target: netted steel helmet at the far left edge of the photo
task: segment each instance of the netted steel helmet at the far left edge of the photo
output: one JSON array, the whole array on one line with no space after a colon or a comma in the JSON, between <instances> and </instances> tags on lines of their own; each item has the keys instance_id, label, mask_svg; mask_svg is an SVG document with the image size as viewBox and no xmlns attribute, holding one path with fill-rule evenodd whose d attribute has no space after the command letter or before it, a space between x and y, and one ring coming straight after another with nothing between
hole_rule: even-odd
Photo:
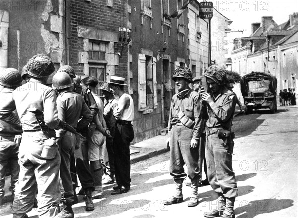
<instances>
[{"instance_id":1,"label":"netted steel helmet at the far left edge of the photo","mask_svg":"<svg viewBox=\"0 0 298 218\"><path fill-rule=\"evenodd\" d=\"M17 87L21 85L23 79L15 68L6 68L0 72L0 85L6 87Z\"/></svg>"}]
</instances>

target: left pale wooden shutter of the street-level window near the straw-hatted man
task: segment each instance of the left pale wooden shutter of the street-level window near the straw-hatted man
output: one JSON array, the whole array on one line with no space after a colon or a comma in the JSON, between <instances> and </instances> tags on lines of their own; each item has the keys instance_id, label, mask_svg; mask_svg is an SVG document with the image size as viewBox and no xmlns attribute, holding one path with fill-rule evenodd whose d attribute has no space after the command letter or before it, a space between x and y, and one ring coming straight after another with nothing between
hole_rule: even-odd
<instances>
[{"instance_id":1,"label":"left pale wooden shutter of the street-level window near the straw-hatted man","mask_svg":"<svg viewBox=\"0 0 298 218\"><path fill-rule=\"evenodd\" d=\"M146 57L145 54L138 54L138 94L139 111L146 110Z\"/></svg>"}]
</instances>

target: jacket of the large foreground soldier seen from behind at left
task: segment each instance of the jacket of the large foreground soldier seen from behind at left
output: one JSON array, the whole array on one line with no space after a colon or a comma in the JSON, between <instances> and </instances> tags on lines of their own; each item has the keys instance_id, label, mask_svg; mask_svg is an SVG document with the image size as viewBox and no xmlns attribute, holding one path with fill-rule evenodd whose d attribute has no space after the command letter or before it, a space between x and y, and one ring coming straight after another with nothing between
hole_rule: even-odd
<instances>
[{"instance_id":1,"label":"jacket of the large foreground soldier seen from behind at left","mask_svg":"<svg viewBox=\"0 0 298 218\"><path fill-rule=\"evenodd\" d=\"M21 122L24 131L38 131L41 128L35 115L27 111L30 107L43 111L45 124L49 128L55 129L58 126L56 93L34 78L14 90L6 102L1 102L0 119L15 125ZM13 113L15 109L19 117Z\"/></svg>"}]
</instances>

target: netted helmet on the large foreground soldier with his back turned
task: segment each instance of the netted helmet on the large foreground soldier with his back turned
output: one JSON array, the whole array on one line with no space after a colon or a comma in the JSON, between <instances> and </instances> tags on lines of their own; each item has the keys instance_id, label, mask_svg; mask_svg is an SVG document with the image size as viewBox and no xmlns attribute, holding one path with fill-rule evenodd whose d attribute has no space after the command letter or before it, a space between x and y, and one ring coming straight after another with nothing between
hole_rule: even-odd
<instances>
[{"instance_id":1,"label":"netted helmet on the large foreground soldier with his back turned","mask_svg":"<svg viewBox=\"0 0 298 218\"><path fill-rule=\"evenodd\" d=\"M43 54L34 55L27 63L28 74L36 78L48 77L55 71L52 60Z\"/></svg>"}]
</instances>

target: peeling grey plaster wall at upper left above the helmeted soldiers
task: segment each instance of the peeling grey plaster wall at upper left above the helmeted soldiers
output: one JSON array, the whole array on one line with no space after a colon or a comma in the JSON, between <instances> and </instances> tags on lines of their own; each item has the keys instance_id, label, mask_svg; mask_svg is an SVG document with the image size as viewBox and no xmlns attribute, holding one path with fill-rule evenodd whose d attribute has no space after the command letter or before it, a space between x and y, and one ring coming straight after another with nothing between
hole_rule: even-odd
<instances>
[{"instance_id":1,"label":"peeling grey plaster wall at upper left above the helmeted soldiers","mask_svg":"<svg viewBox=\"0 0 298 218\"><path fill-rule=\"evenodd\" d=\"M59 14L60 1L1 1L1 10L9 13L8 67L21 70L33 55L50 56L52 49L63 51L59 33L51 31L50 20L51 14Z\"/></svg>"}]
</instances>

